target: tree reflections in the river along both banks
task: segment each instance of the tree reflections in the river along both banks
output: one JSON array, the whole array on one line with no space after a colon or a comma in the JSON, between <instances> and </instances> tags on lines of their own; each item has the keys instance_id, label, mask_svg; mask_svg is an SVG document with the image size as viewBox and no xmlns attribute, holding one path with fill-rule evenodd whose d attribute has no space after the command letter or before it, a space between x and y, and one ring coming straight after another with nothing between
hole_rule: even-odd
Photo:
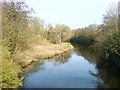
<instances>
[{"instance_id":1,"label":"tree reflections in the river along both banks","mask_svg":"<svg viewBox=\"0 0 120 90\"><path fill-rule=\"evenodd\" d=\"M92 81L97 89L99 88L119 88L120 87L120 72L119 68L113 63L104 64L104 60L98 58L97 54L93 49L85 46L74 46L75 52L78 56L82 56L85 60L88 60L89 63L95 65L96 72L89 71L89 74L94 76L96 79ZM59 56L54 57L53 59L40 60L35 62L28 69L25 70L25 73L28 75L40 70L45 70L44 63L45 61L54 60L55 65L61 65L67 63L71 57L71 51L63 53Z\"/></svg>"}]
</instances>

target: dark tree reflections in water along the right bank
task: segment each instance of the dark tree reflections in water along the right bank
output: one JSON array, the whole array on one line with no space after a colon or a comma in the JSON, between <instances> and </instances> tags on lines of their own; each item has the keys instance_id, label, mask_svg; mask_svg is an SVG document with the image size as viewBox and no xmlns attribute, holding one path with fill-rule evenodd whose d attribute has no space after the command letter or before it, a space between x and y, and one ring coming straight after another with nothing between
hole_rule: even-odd
<instances>
[{"instance_id":1,"label":"dark tree reflections in water along the right bank","mask_svg":"<svg viewBox=\"0 0 120 90\"><path fill-rule=\"evenodd\" d=\"M111 62L104 62L98 58L97 54L89 47L75 46L75 51L78 55L83 56L90 63L95 64L96 73L89 71L89 73L96 77L93 83L96 88L119 88L120 87L120 72L119 67ZM106 64L105 64L106 63Z\"/></svg>"}]
</instances>

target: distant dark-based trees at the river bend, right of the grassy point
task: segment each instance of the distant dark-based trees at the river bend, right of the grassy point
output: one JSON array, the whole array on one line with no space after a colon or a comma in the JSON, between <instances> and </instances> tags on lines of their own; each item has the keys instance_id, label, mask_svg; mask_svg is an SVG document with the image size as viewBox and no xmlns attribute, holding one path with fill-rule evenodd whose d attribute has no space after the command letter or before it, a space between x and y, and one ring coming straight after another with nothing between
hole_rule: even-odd
<instances>
[{"instance_id":1,"label":"distant dark-based trees at the river bend, right of the grassy point","mask_svg":"<svg viewBox=\"0 0 120 90\"><path fill-rule=\"evenodd\" d=\"M80 45L92 45L95 41L96 32L96 29L90 27L74 30L74 36L71 38L71 42Z\"/></svg>"}]
</instances>

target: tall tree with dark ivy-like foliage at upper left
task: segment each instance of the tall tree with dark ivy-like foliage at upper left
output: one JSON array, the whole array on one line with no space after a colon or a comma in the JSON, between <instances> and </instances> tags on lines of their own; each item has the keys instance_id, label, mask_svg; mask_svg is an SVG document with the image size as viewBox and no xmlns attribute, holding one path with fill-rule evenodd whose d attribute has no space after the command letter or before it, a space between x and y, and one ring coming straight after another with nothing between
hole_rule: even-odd
<instances>
[{"instance_id":1,"label":"tall tree with dark ivy-like foliage at upper left","mask_svg":"<svg viewBox=\"0 0 120 90\"><path fill-rule=\"evenodd\" d=\"M26 32L27 10L24 2L3 2L2 3L2 29L3 44L8 46L10 54L16 50L25 49L28 46Z\"/></svg>"}]
</instances>

